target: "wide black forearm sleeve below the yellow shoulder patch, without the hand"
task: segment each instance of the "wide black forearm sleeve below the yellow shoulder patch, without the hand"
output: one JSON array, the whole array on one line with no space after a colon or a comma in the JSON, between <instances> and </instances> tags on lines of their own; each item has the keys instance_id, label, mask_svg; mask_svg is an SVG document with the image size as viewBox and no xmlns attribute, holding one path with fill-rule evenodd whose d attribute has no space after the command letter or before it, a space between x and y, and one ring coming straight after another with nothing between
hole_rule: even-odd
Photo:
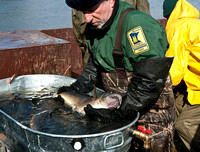
<instances>
[{"instance_id":1,"label":"wide black forearm sleeve below the yellow shoulder patch, without the hand","mask_svg":"<svg viewBox=\"0 0 200 152\"><path fill-rule=\"evenodd\" d=\"M173 58L161 57L133 63L133 77L119 109L123 115L130 115L131 111L142 112L146 106L157 101L172 61Z\"/></svg>"}]
</instances>

